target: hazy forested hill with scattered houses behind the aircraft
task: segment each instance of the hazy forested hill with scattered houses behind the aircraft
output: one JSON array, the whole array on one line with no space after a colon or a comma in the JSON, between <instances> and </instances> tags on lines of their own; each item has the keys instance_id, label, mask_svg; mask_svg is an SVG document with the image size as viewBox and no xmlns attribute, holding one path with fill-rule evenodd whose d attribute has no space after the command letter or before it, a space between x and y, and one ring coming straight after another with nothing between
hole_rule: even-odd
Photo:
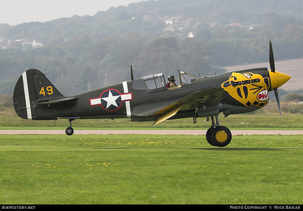
<instances>
[{"instance_id":1,"label":"hazy forested hill with scattered houses behind the aircraft","mask_svg":"<svg viewBox=\"0 0 303 211\"><path fill-rule=\"evenodd\" d=\"M94 16L0 24L0 95L35 68L70 95L178 70L214 75L222 66L303 55L301 0L158 0ZM29 11L30 12L30 11Z\"/></svg>"}]
</instances>

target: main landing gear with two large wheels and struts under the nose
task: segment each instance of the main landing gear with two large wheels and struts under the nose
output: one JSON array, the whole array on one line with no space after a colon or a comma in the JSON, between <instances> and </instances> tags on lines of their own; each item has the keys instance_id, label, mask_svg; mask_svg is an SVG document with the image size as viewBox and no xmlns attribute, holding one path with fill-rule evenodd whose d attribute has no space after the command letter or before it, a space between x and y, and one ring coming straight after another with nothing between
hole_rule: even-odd
<instances>
[{"instance_id":1,"label":"main landing gear with two large wheels and struts under the nose","mask_svg":"<svg viewBox=\"0 0 303 211\"><path fill-rule=\"evenodd\" d=\"M218 115L211 116L211 127L206 132L206 140L211 146L227 146L231 141L231 132L225 126L220 126ZM207 121L209 117L207 117Z\"/></svg>"}]
</instances>

